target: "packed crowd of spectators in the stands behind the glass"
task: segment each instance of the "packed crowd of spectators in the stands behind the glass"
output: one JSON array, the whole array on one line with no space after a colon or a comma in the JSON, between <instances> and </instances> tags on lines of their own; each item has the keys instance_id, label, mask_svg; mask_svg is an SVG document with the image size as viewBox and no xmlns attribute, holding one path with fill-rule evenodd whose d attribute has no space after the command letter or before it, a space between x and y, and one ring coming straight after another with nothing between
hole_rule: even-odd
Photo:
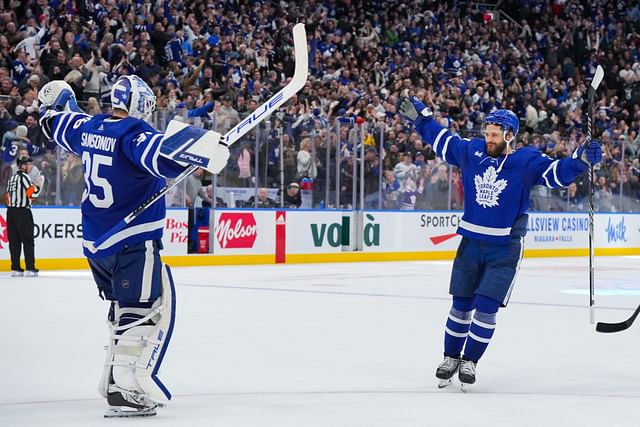
<instances>
[{"instance_id":1,"label":"packed crowd of spectators in the stands behind the glass","mask_svg":"<svg viewBox=\"0 0 640 427\"><path fill-rule=\"evenodd\" d=\"M400 120L399 97L422 98L462 136L478 135L492 109L511 109L521 119L519 146L562 158L584 140L585 94L600 64L593 133L604 161L596 209L638 210L638 2L511 0L500 8L505 13L430 0L2 1L0 187L24 148L48 178L41 203L80 202L81 160L48 145L37 123L37 93L48 81L64 79L83 108L98 114L109 112L117 77L135 73L157 96L157 127L177 117L224 133L287 83L291 29L305 22L304 89L233 146L218 185L282 185L284 196L289 184L313 180L312 205L349 207L355 162L364 167L368 207L459 209L459 172ZM194 177L209 185L204 191L188 183L187 205L224 204L210 178ZM586 176L554 193L540 187L532 207L582 210L587 191Z\"/></svg>"}]
</instances>

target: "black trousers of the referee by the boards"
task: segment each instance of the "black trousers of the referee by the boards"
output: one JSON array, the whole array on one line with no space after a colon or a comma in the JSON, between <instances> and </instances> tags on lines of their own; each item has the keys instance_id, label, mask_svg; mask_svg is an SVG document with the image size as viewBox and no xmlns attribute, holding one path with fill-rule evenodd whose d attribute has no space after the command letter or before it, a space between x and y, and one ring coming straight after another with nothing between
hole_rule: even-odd
<instances>
[{"instance_id":1,"label":"black trousers of the referee by the boards","mask_svg":"<svg viewBox=\"0 0 640 427\"><path fill-rule=\"evenodd\" d=\"M9 253L11 254L11 270L20 268L20 252L24 247L24 261L27 270L35 271L33 253L33 214L29 208L7 208L7 234L9 237Z\"/></svg>"}]
</instances>

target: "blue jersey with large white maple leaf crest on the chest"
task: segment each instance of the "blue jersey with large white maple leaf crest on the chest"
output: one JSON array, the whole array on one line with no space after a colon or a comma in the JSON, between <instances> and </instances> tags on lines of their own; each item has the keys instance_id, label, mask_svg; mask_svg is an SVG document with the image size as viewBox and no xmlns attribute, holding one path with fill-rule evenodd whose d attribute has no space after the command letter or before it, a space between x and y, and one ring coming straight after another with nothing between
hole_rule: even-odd
<instances>
[{"instance_id":1,"label":"blue jersey with large white maple leaf crest on the chest","mask_svg":"<svg viewBox=\"0 0 640 427\"><path fill-rule=\"evenodd\" d=\"M531 147L493 158L483 138L460 138L436 120L419 120L416 129L438 157L460 168L464 214L458 233L473 239L507 242L529 208L532 186L564 187L588 168L582 160L554 160Z\"/></svg>"}]
</instances>

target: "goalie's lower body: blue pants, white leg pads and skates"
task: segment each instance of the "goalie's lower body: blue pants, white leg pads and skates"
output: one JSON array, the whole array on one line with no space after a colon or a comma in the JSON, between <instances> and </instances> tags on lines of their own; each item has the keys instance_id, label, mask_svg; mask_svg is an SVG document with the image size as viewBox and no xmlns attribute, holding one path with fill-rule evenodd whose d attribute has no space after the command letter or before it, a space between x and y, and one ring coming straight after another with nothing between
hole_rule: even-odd
<instances>
[{"instance_id":1,"label":"goalie's lower body: blue pants, white leg pads and skates","mask_svg":"<svg viewBox=\"0 0 640 427\"><path fill-rule=\"evenodd\" d=\"M175 293L160 247L160 242L147 241L90 260L101 293L113 301L99 386L110 406L107 417L154 415L171 399L158 372L173 331Z\"/></svg>"}]
</instances>

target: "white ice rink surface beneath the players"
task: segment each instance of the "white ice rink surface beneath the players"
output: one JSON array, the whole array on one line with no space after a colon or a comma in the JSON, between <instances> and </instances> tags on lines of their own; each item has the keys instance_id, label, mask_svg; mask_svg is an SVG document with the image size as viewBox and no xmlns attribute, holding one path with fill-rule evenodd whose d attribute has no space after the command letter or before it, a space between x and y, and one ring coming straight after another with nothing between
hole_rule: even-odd
<instances>
[{"instance_id":1,"label":"white ice rink surface beneath the players","mask_svg":"<svg viewBox=\"0 0 640 427\"><path fill-rule=\"evenodd\" d=\"M640 303L638 258L596 259L597 320ZM640 324L589 324L586 258L524 260L466 394L438 390L450 262L174 268L156 417L105 420L107 304L89 272L0 278L0 426L638 426Z\"/></svg>"}]
</instances>

